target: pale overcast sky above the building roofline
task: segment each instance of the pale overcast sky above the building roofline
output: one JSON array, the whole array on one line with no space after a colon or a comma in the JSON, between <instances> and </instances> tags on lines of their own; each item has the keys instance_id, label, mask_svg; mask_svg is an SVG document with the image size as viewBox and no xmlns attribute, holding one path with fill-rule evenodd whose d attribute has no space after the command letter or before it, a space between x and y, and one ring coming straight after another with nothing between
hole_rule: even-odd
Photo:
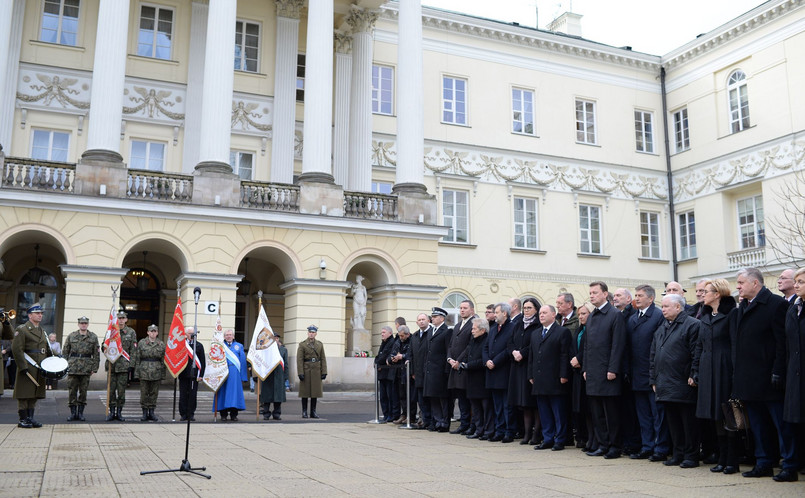
<instances>
[{"instance_id":1,"label":"pale overcast sky above the building roofline","mask_svg":"<svg viewBox=\"0 0 805 498\"><path fill-rule=\"evenodd\" d=\"M539 27L570 9L582 36L664 55L764 3L763 0L422 0L422 5Z\"/></svg>"}]
</instances>

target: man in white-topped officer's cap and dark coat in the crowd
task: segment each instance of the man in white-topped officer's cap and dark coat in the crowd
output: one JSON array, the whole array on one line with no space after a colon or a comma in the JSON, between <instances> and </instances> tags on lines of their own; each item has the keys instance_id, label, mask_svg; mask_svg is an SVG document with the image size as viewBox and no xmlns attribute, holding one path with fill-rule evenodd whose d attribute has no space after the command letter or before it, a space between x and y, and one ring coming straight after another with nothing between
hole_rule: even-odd
<instances>
[{"instance_id":1,"label":"man in white-topped officer's cap and dark coat in the crowd","mask_svg":"<svg viewBox=\"0 0 805 498\"><path fill-rule=\"evenodd\" d=\"M450 344L452 331L444 323L447 312L435 307L431 311L433 332L428 339L428 355L425 360L425 402L430 403L430 412L433 425L430 431L450 431L450 413L447 410L449 393L447 391L447 376L450 373L450 364L447 363L447 348Z\"/></svg>"}]
</instances>

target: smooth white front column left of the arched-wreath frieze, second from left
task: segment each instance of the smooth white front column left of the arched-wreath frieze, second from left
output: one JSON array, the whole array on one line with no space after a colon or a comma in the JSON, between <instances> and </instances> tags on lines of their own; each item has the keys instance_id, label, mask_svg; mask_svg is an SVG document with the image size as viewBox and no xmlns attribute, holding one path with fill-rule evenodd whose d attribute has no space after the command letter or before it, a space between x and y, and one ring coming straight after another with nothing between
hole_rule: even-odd
<instances>
[{"instance_id":1,"label":"smooth white front column left of the arched-wreath frieze, second from left","mask_svg":"<svg viewBox=\"0 0 805 498\"><path fill-rule=\"evenodd\" d=\"M129 0L102 1L98 7L92 66L87 150L81 156L82 160L123 163L120 124L123 119L128 32Z\"/></svg>"}]
</instances>

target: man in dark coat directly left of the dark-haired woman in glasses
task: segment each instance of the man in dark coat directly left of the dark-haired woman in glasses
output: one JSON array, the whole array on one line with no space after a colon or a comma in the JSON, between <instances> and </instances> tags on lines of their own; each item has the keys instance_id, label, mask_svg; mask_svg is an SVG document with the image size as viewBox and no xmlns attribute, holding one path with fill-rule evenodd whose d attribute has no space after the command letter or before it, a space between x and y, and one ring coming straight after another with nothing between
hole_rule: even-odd
<instances>
[{"instance_id":1,"label":"man in dark coat directly left of the dark-haired woman in glasses","mask_svg":"<svg viewBox=\"0 0 805 498\"><path fill-rule=\"evenodd\" d=\"M495 322L497 327L489 331L489 339L484 347L484 364L486 365L486 388L492 392L492 404L495 410L495 434L490 441L511 443L514 441L516 422L512 407L506 402L509 388L509 369L511 352L509 342L512 335L512 324L509 319L511 308L507 303L495 305Z\"/></svg>"}]
</instances>

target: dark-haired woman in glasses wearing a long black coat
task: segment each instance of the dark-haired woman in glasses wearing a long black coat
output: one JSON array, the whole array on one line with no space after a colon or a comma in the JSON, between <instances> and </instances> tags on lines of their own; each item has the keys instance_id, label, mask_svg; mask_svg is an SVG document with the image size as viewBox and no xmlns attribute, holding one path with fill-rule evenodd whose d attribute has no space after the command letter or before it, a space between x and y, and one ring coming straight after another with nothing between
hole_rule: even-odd
<instances>
[{"instance_id":1,"label":"dark-haired woman in glasses wearing a long black coat","mask_svg":"<svg viewBox=\"0 0 805 498\"><path fill-rule=\"evenodd\" d=\"M531 383L528 382L531 333L542 328L538 317L540 307L539 301L533 297L523 300L523 319L517 321L509 341L512 366L509 370L508 402L523 414L523 439L520 444L539 444L540 440L537 397L531 393Z\"/></svg>"}]
</instances>

